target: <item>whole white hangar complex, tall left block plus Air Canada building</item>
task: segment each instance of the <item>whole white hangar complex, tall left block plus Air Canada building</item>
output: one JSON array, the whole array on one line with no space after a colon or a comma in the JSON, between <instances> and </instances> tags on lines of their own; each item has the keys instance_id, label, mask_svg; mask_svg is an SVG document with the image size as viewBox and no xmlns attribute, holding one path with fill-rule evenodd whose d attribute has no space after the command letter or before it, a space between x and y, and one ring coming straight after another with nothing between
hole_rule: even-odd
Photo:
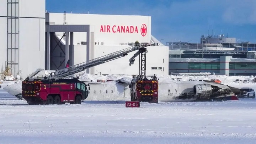
<instances>
[{"instance_id":1,"label":"whole white hangar complex, tall left block plus Air Canada building","mask_svg":"<svg viewBox=\"0 0 256 144\"><path fill-rule=\"evenodd\" d=\"M66 41L66 39L68 39ZM0 1L0 64L23 78L37 68L56 70L151 43L146 74L168 74L169 48L151 35L150 16L48 13L45 0ZM91 74L138 74L139 61L128 56L86 70ZM80 73L81 74L81 73Z\"/></svg>"}]
</instances>

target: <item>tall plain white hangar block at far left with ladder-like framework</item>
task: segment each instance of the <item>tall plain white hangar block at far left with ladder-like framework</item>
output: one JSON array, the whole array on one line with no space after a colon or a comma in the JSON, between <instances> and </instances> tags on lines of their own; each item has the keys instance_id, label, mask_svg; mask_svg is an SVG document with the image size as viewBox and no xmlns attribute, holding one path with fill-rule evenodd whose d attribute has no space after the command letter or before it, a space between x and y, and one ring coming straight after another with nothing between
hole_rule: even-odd
<instances>
[{"instance_id":1,"label":"tall plain white hangar block at far left with ladder-like framework","mask_svg":"<svg viewBox=\"0 0 256 144\"><path fill-rule=\"evenodd\" d=\"M24 78L45 67L45 0L9 2L0 1L0 65L9 61L12 75L22 71Z\"/></svg>"}]
</instances>

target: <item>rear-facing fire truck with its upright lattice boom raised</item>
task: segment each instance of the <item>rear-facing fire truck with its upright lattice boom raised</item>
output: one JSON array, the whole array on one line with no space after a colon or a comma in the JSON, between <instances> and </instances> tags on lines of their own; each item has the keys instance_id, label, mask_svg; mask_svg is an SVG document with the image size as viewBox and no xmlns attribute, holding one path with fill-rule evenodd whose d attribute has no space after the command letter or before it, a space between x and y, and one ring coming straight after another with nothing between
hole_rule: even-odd
<instances>
[{"instance_id":1,"label":"rear-facing fire truck with its upright lattice boom raised","mask_svg":"<svg viewBox=\"0 0 256 144\"><path fill-rule=\"evenodd\" d=\"M129 60L129 65L132 65L135 58L139 56L139 75L134 77L129 85L131 101L158 103L158 79L155 75L150 79L146 77L146 53L148 52L146 46L149 46L150 43L139 44L136 41L135 45L145 46L140 48Z\"/></svg>"}]
</instances>

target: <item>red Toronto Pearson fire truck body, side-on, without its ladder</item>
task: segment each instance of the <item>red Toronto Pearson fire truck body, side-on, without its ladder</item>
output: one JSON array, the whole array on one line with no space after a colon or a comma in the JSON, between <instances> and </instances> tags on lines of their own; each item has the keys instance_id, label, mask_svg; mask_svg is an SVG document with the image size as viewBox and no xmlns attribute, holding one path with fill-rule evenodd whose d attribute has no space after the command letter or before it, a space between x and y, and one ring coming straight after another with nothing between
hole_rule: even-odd
<instances>
[{"instance_id":1,"label":"red Toronto Pearson fire truck body, side-on, without its ladder","mask_svg":"<svg viewBox=\"0 0 256 144\"><path fill-rule=\"evenodd\" d=\"M88 96L87 86L78 78L26 79L22 81L22 97L30 105L81 104Z\"/></svg>"}]
</instances>

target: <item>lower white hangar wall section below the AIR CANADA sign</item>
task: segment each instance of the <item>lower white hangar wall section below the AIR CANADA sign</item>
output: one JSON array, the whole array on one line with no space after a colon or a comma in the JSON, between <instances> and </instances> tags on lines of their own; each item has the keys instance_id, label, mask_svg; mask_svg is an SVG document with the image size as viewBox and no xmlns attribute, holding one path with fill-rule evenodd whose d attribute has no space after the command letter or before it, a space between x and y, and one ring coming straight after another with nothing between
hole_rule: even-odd
<instances>
[{"instance_id":1,"label":"lower white hangar wall section below the AIR CANADA sign","mask_svg":"<svg viewBox=\"0 0 256 144\"><path fill-rule=\"evenodd\" d=\"M129 46L95 46L94 57L100 57L109 53L128 48ZM146 75L168 75L169 74L169 47L148 46L146 53ZM130 52L127 56L117 60L95 66L92 74L139 74L139 56L133 65L129 66L129 59L137 51Z\"/></svg>"}]
</instances>

